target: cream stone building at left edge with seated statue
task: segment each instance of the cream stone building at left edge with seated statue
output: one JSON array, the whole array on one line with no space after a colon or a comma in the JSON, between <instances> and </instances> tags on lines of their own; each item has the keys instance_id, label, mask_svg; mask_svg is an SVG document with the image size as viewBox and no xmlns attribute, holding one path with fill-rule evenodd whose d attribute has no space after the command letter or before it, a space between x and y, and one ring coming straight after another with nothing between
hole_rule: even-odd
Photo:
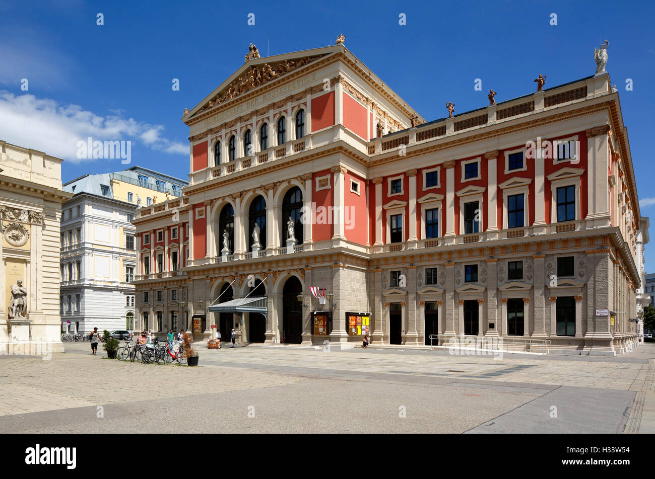
<instances>
[{"instance_id":1,"label":"cream stone building at left edge with seated statue","mask_svg":"<svg viewBox=\"0 0 655 479\"><path fill-rule=\"evenodd\" d=\"M62 190L62 161L0 141L0 354L64 350L59 226L62 203L72 195ZM22 296L20 315L10 307L12 288Z\"/></svg>"}]
</instances>

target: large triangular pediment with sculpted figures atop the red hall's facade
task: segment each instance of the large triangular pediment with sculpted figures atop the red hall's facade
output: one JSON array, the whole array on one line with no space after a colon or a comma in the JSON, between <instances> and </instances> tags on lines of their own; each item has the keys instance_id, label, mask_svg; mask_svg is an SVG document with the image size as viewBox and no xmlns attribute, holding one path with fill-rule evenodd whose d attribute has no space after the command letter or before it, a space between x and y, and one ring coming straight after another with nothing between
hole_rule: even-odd
<instances>
[{"instance_id":1,"label":"large triangular pediment with sculpted figures atop the red hall's facade","mask_svg":"<svg viewBox=\"0 0 655 479\"><path fill-rule=\"evenodd\" d=\"M230 103L231 100L239 98L247 92L257 90L260 86L269 84L274 80L281 79L288 73L291 73L291 71L295 71L337 51L341 51L341 46L333 45L282 55L246 58L243 65L212 93L200 101L191 111L186 112L182 118L184 121L188 121L195 115L204 113L210 109L218 111L221 107ZM259 52L257 55L259 55ZM250 56L250 53L248 56Z\"/></svg>"}]
</instances>

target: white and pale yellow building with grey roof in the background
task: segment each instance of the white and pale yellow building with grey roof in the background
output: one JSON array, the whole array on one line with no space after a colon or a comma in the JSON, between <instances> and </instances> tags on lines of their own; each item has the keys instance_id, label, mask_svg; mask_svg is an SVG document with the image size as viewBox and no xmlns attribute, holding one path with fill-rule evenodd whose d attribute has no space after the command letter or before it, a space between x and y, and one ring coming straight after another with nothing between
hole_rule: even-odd
<instances>
[{"instance_id":1,"label":"white and pale yellow building with grey roof in the background","mask_svg":"<svg viewBox=\"0 0 655 479\"><path fill-rule=\"evenodd\" d=\"M157 171L84 175L65 183L75 194L62 206L62 330L134 328L136 251L132 219L138 204L180 196L187 182Z\"/></svg>"}]
</instances>

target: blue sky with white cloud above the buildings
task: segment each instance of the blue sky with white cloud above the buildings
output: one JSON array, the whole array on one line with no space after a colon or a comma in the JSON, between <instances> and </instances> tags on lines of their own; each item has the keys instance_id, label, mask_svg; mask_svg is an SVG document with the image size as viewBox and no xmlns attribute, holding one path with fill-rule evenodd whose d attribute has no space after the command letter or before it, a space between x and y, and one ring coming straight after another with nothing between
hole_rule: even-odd
<instances>
[{"instance_id":1,"label":"blue sky with white cloud above the buildings","mask_svg":"<svg viewBox=\"0 0 655 479\"><path fill-rule=\"evenodd\" d=\"M548 75L546 88L593 75L593 49L607 39L641 213L655 217L653 18L650 2L616 1L0 0L0 139L63 157L64 181L124 168L77 160L74 145L88 135L129 139L132 165L187 178L182 111L243 64L250 42L264 56L327 46L343 33L346 47L429 121L447 114L446 101L456 113L486 105L489 88L496 101L533 92L538 73ZM650 248L646 266L655 272Z\"/></svg>"}]
</instances>

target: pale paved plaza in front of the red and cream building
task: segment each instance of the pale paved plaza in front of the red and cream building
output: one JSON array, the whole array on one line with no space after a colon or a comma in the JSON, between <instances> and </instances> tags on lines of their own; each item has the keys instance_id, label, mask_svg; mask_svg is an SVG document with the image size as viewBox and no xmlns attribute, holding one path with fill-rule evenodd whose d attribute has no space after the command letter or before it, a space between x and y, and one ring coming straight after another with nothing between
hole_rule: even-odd
<instances>
[{"instance_id":1,"label":"pale paved plaza in front of the red and cream building","mask_svg":"<svg viewBox=\"0 0 655 479\"><path fill-rule=\"evenodd\" d=\"M0 357L0 433L653 433L655 344L619 357L241 346L198 368L65 344Z\"/></svg>"}]
</instances>

